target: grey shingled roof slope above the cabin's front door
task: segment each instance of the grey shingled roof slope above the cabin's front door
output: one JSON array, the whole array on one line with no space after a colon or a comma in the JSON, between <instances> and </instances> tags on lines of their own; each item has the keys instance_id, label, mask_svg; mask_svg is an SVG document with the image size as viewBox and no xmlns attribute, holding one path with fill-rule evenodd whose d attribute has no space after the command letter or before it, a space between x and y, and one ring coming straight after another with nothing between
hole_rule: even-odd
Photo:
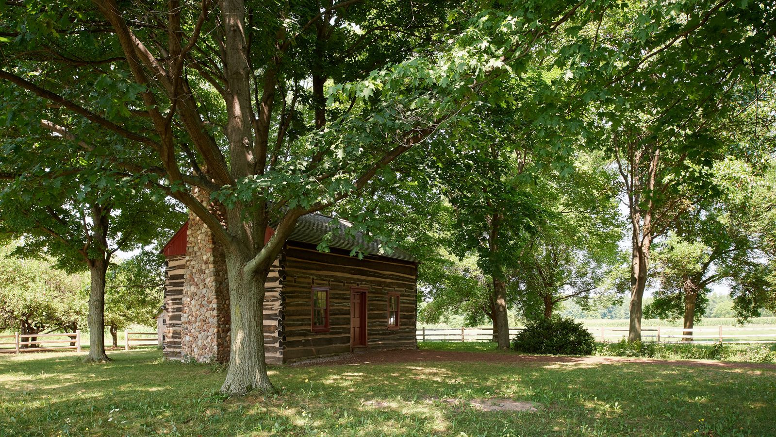
<instances>
[{"instance_id":1,"label":"grey shingled roof slope above the cabin's front door","mask_svg":"<svg viewBox=\"0 0 776 437\"><path fill-rule=\"evenodd\" d=\"M280 217L276 217L275 220L270 220L269 225L271 227L277 227L279 219ZM338 224L332 225L332 220L337 220ZM379 255L386 258L417 262L417 259L414 258L414 256L401 248L393 248L393 251L390 254L380 253L379 241L367 241L366 236L360 231L355 232L355 238L345 234L345 228L352 226L353 224L348 220L327 217L320 213L310 213L300 217L299 220L296 220L296 226L293 231L291 231L291 235L289 235L289 241L319 245L320 242L323 241L324 235L333 231L331 239L328 242L330 248L352 251L353 248L359 246L359 249L368 255Z\"/></svg>"}]
</instances>

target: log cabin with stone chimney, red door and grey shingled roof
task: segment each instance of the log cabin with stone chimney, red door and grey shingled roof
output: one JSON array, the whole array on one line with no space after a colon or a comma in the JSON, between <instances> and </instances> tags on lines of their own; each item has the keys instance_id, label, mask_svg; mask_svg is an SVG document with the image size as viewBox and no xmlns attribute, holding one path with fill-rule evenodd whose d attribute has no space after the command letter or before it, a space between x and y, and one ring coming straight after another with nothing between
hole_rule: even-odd
<instances>
[{"instance_id":1,"label":"log cabin with stone chimney, red door and grey shingled roof","mask_svg":"<svg viewBox=\"0 0 776 437\"><path fill-rule=\"evenodd\" d=\"M417 348L417 260L400 248L379 254L376 242L359 232L346 234L351 226L320 214L298 220L265 283L269 364L359 349ZM272 232L271 222L267 239ZM324 238L327 252L317 250ZM351 255L354 248L362 258ZM227 362L229 284L223 248L192 216L165 245L164 255L165 358Z\"/></svg>"}]
</instances>

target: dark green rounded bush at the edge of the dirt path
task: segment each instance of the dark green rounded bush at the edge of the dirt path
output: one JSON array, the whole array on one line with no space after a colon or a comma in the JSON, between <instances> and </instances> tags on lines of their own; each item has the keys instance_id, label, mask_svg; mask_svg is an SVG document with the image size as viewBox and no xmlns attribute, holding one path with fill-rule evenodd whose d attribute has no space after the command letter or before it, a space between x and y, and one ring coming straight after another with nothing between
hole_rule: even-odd
<instances>
[{"instance_id":1,"label":"dark green rounded bush at the edge of the dirt path","mask_svg":"<svg viewBox=\"0 0 776 437\"><path fill-rule=\"evenodd\" d=\"M591 355L593 335L572 318L530 321L513 340L514 350L556 355Z\"/></svg>"}]
</instances>

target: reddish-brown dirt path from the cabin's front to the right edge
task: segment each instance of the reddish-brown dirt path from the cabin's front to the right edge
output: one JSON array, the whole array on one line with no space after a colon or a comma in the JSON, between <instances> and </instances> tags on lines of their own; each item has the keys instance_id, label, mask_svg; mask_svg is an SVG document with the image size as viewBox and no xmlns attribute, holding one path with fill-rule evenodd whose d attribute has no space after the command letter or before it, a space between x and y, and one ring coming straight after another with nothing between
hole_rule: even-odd
<instances>
[{"instance_id":1,"label":"reddish-brown dirt path from the cabin's front to the right edge","mask_svg":"<svg viewBox=\"0 0 776 437\"><path fill-rule=\"evenodd\" d=\"M636 362L659 366L694 366L712 367L718 369L770 369L776 370L776 364L757 362L720 362L692 359L650 359L625 358L618 356L547 356L519 355L509 352L457 352L418 350L368 351L338 355L334 357L310 359L297 362L293 366L332 366L359 364L390 364L398 362L497 362L504 364L557 364L557 365L596 365Z\"/></svg>"}]
</instances>

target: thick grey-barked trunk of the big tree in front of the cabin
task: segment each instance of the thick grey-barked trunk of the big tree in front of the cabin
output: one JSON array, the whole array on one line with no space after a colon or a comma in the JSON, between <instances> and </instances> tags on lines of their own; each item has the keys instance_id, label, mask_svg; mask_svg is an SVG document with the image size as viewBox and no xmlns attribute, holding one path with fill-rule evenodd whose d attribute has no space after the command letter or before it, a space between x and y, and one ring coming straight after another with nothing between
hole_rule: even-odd
<instances>
[{"instance_id":1,"label":"thick grey-barked trunk of the big tree in front of the cabin","mask_svg":"<svg viewBox=\"0 0 776 437\"><path fill-rule=\"evenodd\" d=\"M221 387L227 394L275 391L267 376L264 355L263 302L268 271L246 276L248 259L236 250L227 250L231 345L227 377Z\"/></svg>"}]
</instances>

